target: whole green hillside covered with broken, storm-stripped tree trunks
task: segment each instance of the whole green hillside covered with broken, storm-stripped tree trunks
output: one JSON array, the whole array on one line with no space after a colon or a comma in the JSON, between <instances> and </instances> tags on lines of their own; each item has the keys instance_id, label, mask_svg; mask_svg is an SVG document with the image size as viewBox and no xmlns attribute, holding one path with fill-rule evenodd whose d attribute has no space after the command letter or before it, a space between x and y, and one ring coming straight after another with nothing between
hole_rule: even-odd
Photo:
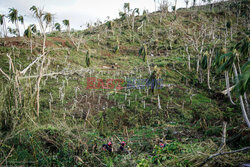
<instances>
[{"instance_id":1,"label":"whole green hillside covered with broken, storm-stripped tree trunks","mask_svg":"<svg viewBox=\"0 0 250 167\"><path fill-rule=\"evenodd\" d=\"M249 147L239 95L231 91L233 105L222 93L225 75L230 86L236 77L221 67L229 59L220 58L232 51L238 69L249 62L248 6L230 1L176 15L131 9L84 31L47 33L44 54L37 34L32 53L28 38L1 38L0 166L200 166L219 151ZM128 88L153 71L160 89ZM108 79L123 89L103 86ZM112 153L102 151L109 141ZM127 151L118 152L122 141ZM249 159L248 150L205 166Z\"/></svg>"}]
</instances>

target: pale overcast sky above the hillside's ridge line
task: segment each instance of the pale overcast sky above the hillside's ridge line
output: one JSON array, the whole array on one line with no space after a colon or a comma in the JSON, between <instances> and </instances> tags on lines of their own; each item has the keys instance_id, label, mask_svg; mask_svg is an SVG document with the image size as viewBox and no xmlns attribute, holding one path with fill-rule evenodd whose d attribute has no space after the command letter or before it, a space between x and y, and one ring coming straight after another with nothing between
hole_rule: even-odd
<instances>
[{"instance_id":1,"label":"pale overcast sky above the hillside's ridge line","mask_svg":"<svg viewBox=\"0 0 250 167\"><path fill-rule=\"evenodd\" d=\"M174 0L169 1L174 4ZM117 18L125 2L129 2L131 8L140 8L141 12L144 9L149 12L155 10L154 0L0 0L0 14L7 15L9 8L14 7L20 15L24 15L25 24L29 25L36 22L29 11L35 5L55 14L56 22L69 19L71 28L81 29L80 26L85 26L87 22L94 23L97 19L104 21L107 16ZM184 6L184 0L178 0L177 7Z\"/></svg>"}]
</instances>

